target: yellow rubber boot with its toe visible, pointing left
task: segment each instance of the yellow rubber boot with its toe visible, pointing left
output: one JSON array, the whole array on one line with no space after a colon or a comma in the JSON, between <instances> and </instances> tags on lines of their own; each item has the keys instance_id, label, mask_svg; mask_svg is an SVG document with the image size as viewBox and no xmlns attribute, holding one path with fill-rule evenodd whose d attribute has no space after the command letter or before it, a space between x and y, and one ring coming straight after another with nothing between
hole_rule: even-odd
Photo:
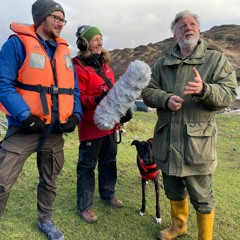
<instances>
[{"instance_id":1,"label":"yellow rubber boot with its toe visible, pointing left","mask_svg":"<svg viewBox=\"0 0 240 240\"><path fill-rule=\"evenodd\" d=\"M162 230L161 240L172 240L187 234L188 198L182 201L170 201L172 226Z\"/></svg>"}]
</instances>

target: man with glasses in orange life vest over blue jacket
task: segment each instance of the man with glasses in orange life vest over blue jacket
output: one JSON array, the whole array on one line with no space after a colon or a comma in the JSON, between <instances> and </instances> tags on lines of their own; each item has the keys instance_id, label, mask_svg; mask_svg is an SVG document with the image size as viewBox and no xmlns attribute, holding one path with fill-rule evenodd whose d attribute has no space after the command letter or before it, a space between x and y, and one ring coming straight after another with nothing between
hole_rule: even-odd
<instances>
[{"instance_id":1,"label":"man with glasses in orange life vest over blue jacket","mask_svg":"<svg viewBox=\"0 0 240 240\"><path fill-rule=\"evenodd\" d=\"M66 41L60 4L37 0L34 25L12 23L15 32L0 52L0 102L8 131L0 145L0 216L27 158L37 151L38 226L48 239L64 239L53 222L56 178L64 163L63 133L82 118L80 91Z\"/></svg>"}]
</instances>

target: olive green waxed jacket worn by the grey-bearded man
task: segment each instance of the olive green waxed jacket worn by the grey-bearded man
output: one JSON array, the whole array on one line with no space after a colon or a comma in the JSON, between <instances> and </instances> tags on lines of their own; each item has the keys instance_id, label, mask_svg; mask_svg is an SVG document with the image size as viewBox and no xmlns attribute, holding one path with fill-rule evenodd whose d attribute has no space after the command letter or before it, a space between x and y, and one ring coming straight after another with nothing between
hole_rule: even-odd
<instances>
[{"instance_id":1,"label":"olive green waxed jacket worn by the grey-bearded man","mask_svg":"<svg viewBox=\"0 0 240 240\"><path fill-rule=\"evenodd\" d=\"M204 82L203 95L184 95L184 86L193 81L192 67ZM171 95L184 103L176 112L166 108ZM210 50L200 39L195 51L182 60L176 45L159 58L152 68L149 86L142 98L157 109L153 155L158 167L173 176L205 175L217 165L217 126L215 114L237 97L234 68L221 52Z\"/></svg>"}]
</instances>

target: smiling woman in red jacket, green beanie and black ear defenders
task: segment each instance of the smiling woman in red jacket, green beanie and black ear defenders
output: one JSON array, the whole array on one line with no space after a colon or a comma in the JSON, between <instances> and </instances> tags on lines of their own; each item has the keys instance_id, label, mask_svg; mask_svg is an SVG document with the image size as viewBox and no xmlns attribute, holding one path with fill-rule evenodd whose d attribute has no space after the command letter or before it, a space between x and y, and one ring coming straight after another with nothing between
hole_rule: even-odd
<instances>
[{"instance_id":1,"label":"smiling woman in red jacket, green beanie and black ear defenders","mask_svg":"<svg viewBox=\"0 0 240 240\"><path fill-rule=\"evenodd\" d=\"M93 26L80 26L76 33L80 50L73 63L81 90L83 118L78 127L80 141L77 164L77 210L87 223L97 221L92 211L95 189L94 169L98 163L99 194L103 202L120 208L122 201L115 197L117 180L117 144L114 129L100 130L94 123L95 108L114 84L114 74L109 66L109 52L102 48L102 34ZM104 80L97 72L101 71Z\"/></svg>"}]
</instances>

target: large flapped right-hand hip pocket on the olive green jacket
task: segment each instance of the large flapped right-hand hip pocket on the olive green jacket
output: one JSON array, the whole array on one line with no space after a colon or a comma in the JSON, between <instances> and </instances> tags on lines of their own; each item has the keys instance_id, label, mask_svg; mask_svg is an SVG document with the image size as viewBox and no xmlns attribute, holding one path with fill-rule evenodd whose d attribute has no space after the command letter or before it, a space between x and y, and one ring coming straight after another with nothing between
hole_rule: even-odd
<instances>
[{"instance_id":1,"label":"large flapped right-hand hip pocket on the olive green jacket","mask_svg":"<svg viewBox=\"0 0 240 240\"><path fill-rule=\"evenodd\" d=\"M187 124L185 161L189 165L200 165L216 159L217 134L215 124L208 122Z\"/></svg>"}]
</instances>

